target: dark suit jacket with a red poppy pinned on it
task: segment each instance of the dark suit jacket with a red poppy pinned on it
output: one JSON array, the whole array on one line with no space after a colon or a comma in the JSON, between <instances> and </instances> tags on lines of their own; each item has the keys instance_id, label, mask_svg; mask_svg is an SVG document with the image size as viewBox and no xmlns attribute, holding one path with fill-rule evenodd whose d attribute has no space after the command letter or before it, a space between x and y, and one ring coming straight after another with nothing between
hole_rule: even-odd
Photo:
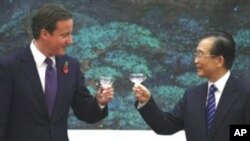
<instances>
[{"instance_id":1,"label":"dark suit jacket with a red poppy pinned on it","mask_svg":"<svg viewBox=\"0 0 250 141\"><path fill-rule=\"evenodd\" d=\"M68 73L63 65L68 61ZM58 90L51 118L30 48L0 59L0 141L68 141L70 106L80 120L107 116L84 85L78 62L57 56Z\"/></svg>"}]
</instances>

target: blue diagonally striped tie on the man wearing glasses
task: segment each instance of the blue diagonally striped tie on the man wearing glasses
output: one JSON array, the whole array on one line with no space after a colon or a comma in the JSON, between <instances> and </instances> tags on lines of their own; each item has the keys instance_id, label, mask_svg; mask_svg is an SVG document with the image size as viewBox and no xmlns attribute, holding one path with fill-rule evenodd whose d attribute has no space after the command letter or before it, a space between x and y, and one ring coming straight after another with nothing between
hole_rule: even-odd
<instances>
[{"instance_id":1,"label":"blue diagonally striped tie on the man wearing glasses","mask_svg":"<svg viewBox=\"0 0 250 141\"><path fill-rule=\"evenodd\" d=\"M212 84L209 89L208 93L208 100L207 100L207 119L206 119L206 126L207 126L207 134L209 134L214 117L215 117L215 96L214 93L217 91L217 88Z\"/></svg>"}]
</instances>

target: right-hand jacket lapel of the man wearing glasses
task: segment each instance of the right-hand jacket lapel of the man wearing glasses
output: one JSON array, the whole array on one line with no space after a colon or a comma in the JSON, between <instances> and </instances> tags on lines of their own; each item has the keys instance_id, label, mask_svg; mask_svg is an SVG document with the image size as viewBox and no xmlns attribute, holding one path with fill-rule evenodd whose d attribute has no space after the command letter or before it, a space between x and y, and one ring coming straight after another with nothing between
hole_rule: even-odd
<instances>
[{"instance_id":1,"label":"right-hand jacket lapel of the man wearing glasses","mask_svg":"<svg viewBox=\"0 0 250 141\"><path fill-rule=\"evenodd\" d=\"M237 100L237 98L238 98L237 88L235 87L235 84L234 84L234 78L231 75L225 85L225 88L221 95L221 99L217 106L214 123L211 127L210 137L215 135L217 128L221 126L224 118L226 117L227 113L230 111L231 106L233 106L233 103Z\"/></svg>"}]
</instances>

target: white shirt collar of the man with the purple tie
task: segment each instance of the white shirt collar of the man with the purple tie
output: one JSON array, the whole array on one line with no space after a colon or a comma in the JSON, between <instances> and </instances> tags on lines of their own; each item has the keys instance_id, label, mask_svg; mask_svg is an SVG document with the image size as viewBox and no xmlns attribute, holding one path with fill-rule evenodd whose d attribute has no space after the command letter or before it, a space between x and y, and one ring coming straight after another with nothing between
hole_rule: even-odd
<instances>
[{"instance_id":1,"label":"white shirt collar of the man with the purple tie","mask_svg":"<svg viewBox=\"0 0 250 141\"><path fill-rule=\"evenodd\" d=\"M32 40L30 43L30 50L31 50L31 53L34 57L36 65L38 67L42 66L44 64L44 60L46 59L46 56L40 50L38 50L38 48L34 44L34 40ZM52 59L53 64L55 64L55 62L56 62L55 56L50 57L50 59Z\"/></svg>"}]
</instances>

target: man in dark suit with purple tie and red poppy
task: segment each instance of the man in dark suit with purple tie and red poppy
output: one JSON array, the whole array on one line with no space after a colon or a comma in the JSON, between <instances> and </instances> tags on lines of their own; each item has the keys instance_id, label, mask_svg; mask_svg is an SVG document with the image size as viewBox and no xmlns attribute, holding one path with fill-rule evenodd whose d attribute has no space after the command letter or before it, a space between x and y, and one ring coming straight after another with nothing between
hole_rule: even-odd
<instances>
[{"instance_id":1,"label":"man in dark suit with purple tie and red poppy","mask_svg":"<svg viewBox=\"0 0 250 141\"><path fill-rule=\"evenodd\" d=\"M107 116L113 88L90 95L79 63L65 55L72 30L69 11L45 5L32 19L30 46L0 60L0 141L68 141L70 107L88 123Z\"/></svg>"}]
</instances>

